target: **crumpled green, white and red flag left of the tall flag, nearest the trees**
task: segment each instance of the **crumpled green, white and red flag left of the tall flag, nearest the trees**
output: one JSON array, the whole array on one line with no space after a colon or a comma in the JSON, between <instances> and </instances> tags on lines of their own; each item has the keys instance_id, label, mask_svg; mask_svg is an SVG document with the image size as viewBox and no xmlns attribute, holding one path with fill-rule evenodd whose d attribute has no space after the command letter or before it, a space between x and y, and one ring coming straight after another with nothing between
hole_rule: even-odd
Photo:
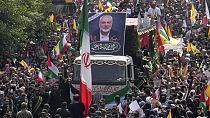
<instances>
[{"instance_id":1,"label":"crumpled green, white and red flag left of the tall flag, nearest the trees","mask_svg":"<svg viewBox=\"0 0 210 118\"><path fill-rule=\"evenodd\" d=\"M58 42L58 44L55 46L55 54L56 56L61 59L64 52L66 52L68 50L68 48L70 47L69 43L66 41L68 37L68 33L63 33L61 40Z\"/></svg>"}]
</instances>

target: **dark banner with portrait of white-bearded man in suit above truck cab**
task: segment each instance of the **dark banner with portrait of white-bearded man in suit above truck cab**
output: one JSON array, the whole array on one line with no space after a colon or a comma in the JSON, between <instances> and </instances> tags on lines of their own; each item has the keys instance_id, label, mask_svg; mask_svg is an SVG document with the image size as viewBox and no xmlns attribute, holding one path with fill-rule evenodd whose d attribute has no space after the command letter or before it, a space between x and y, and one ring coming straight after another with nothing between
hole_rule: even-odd
<instances>
[{"instance_id":1,"label":"dark banner with portrait of white-bearded man in suit above truck cab","mask_svg":"<svg viewBox=\"0 0 210 118\"><path fill-rule=\"evenodd\" d=\"M126 13L89 13L91 54L124 55Z\"/></svg>"}]
</instances>

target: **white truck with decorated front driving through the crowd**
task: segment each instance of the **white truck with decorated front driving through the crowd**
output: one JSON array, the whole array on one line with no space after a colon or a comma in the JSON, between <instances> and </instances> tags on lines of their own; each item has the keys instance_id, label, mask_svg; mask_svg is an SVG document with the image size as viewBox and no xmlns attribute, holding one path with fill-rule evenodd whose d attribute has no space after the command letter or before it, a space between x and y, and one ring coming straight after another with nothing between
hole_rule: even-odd
<instances>
[{"instance_id":1,"label":"white truck with decorated front driving through the crowd","mask_svg":"<svg viewBox=\"0 0 210 118\"><path fill-rule=\"evenodd\" d=\"M131 56L91 55L93 102L121 91L134 80ZM79 90L81 56L74 60L72 86Z\"/></svg>"}]
</instances>

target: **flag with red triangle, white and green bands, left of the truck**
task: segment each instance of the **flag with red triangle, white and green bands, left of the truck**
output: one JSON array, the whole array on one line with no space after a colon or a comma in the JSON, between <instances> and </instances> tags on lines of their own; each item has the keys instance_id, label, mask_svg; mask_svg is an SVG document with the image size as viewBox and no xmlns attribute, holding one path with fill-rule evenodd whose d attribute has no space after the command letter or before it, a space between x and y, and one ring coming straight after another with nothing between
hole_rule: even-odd
<instances>
[{"instance_id":1,"label":"flag with red triangle, white and green bands, left of the truck","mask_svg":"<svg viewBox=\"0 0 210 118\"><path fill-rule=\"evenodd\" d=\"M58 76L58 68L51 62L50 55L48 54L47 58L47 66L48 66L48 77L55 78Z\"/></svg>"}]
</instances>

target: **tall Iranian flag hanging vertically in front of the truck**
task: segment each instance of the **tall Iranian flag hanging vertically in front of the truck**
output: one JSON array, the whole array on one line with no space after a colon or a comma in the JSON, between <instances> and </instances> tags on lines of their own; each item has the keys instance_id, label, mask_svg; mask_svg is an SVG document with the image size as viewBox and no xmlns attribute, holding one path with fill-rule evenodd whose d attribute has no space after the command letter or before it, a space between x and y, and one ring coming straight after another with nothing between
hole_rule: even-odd
<instances>
[{"instance_id":1,"label":"tall Iranian flag hanging vertically in front of the truck","mask_svg":"<svg viewBox=\"0 0 210 118\"><path fill-rule=\"evenodd\" d=\"M82 13L80 16L80 55L81 55L81 80L80 80L80 101L85 106L84 115L88 115L92 99L92 75L90 64L90 39L88 27L88 6L84 0Z\"/></svg>"}]
</instances>

